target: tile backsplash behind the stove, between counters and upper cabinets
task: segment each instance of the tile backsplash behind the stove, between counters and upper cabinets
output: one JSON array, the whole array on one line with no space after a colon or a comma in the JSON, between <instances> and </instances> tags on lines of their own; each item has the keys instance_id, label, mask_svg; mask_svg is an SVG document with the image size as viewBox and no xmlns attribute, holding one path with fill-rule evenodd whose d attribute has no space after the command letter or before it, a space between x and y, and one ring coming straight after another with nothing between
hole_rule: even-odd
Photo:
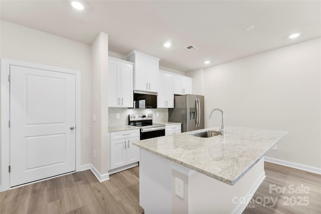
<instances>
[{"instance_id":1,"label":"tile backsplash behind the stove, between counters and upper cabinets","mask_svg":"<svg viewBox=\"0 0 321 214\"><path fill-rule=\"evenodd\" d=\"M119 113L119 119L116 119L116 113ZM159 116L156 117L156 113ZM153 122L167 122L169 120L169 112L167 108L157 109L133 109L133 108L108 108L108 123L109 126L128 125L129 114L152 114Z\"/></svg>"}]
</instances>

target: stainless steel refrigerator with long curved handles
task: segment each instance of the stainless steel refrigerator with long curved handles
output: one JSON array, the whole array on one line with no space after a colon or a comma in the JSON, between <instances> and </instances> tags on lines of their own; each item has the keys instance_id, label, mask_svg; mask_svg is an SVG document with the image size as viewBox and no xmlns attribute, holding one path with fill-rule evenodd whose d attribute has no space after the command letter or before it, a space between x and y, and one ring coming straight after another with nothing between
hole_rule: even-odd
<instances>
[{"instance_id":1,"label":"stainless steel refrigerator with long curved handles","mask_svg":"<svg viewBox=\"0 0 321 214\"><path fill-rule=\"evenodd\" d=\"M204 129L204 96L175 96L174 108L169 109L169 121L182 122L182 132Z\"/></svg>"}]
</instances>

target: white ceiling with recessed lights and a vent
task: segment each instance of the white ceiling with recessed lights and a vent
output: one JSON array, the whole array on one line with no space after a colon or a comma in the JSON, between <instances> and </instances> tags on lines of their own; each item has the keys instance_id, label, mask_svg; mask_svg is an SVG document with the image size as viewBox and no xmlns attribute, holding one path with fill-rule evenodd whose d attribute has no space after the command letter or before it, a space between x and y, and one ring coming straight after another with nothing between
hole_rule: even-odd
<instances>
[{"instance_id":1,"label":"white ceiling with recessed lights and a vent","mask_svg":"<svg viewBox=\"0 0 321 214\"><path fill-rule=\"evenodd\" d=\"M69 1L1 1L1 19L88 45L102 31L109 51L137 50L183 72L321 36L320 1L82 2L79 12ZM249 25L254 30L244 31ZM288 39L292 33L301 35Z\"/></svg>"}]
</instances>

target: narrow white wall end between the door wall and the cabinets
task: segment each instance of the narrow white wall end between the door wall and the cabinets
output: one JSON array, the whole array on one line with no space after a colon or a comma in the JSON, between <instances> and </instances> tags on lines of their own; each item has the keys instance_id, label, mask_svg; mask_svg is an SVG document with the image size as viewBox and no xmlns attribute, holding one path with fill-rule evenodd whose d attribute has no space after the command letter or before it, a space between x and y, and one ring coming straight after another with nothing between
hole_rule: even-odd
<instances>
[{"instance_id":1,"label":"narrow white wall end between the door wall and the cabinets","mask_svg":"<svg viewBox=\"0 0 321 214\"><path fill-rule=\"evenodd\" d=\"M107 34L99 33L91 45L91 53L91 111L92 115L96 115L96 121L92 121L91 126L91 163L103 175L109 169ZM94 150L96 156L94 156Z\"/></svg>"}]
</instances>

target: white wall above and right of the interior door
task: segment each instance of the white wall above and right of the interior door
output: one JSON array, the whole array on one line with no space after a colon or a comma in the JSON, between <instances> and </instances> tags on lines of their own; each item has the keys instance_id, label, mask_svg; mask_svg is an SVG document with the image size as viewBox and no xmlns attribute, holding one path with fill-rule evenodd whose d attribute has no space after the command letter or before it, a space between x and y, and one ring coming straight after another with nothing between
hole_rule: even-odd
<instances>
[{"instance_id":1,"label":"white wall above and right of the interior door","mask_svg":"<svg viewBox=\"0 0 321 214\"><path fill-rule=\"evenodd\" d=\"M2 58L81 71L81 164L90 163L90 46L6 21L0 27Z\"/></svg>"}]
</instances>

